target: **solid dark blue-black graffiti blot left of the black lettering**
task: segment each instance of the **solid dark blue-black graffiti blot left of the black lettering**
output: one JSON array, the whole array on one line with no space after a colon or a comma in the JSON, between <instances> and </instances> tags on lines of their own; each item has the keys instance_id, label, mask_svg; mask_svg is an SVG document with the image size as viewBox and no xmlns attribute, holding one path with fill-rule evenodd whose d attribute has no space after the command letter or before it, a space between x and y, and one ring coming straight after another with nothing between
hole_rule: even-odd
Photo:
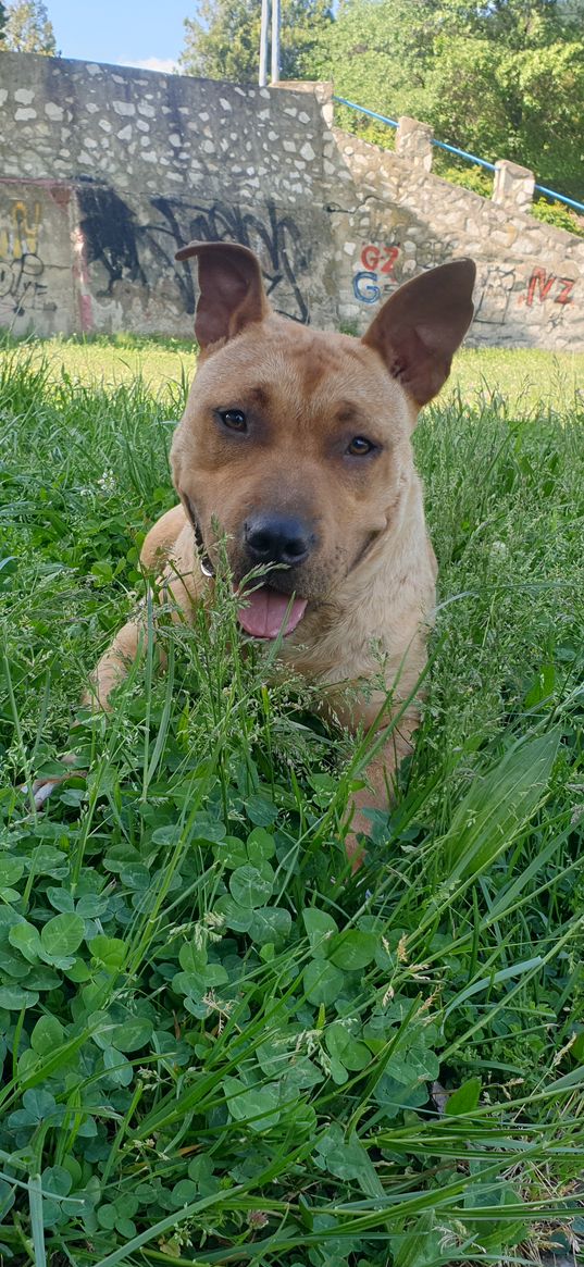
<instances>
[{"instance_id":1,"label":"solid dark blue-black graffiti blot left of the black lettering","mask_svg":"<svg viewBox=\"0 0 584 1267\"><path fill-rule=\"evenodd\" d=\"M101 264L108 275L108 285L98 295L111 295L117 281L139 281L146 286L138 258L139 228L127 203L109 186L90 182L80 186L77 196L86 261Z\"/></svg>"}]
</instances>

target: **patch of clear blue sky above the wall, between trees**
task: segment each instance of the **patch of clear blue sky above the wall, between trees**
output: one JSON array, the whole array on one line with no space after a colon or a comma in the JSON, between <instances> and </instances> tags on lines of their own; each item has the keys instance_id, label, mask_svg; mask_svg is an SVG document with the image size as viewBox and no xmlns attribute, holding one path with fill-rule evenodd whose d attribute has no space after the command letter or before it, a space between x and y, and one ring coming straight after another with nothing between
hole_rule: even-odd
<instances>
[{"instance_id":1,"label":"patch of clear blue sky above the wall, between trees","mask_svg":"<svg viewBox=\"0 0 584 1267\"><path fill-rule=\"evenodd\" d=\"M46 0L63 57L171 70L193 0Z\"/></svg>"}]
</instances>

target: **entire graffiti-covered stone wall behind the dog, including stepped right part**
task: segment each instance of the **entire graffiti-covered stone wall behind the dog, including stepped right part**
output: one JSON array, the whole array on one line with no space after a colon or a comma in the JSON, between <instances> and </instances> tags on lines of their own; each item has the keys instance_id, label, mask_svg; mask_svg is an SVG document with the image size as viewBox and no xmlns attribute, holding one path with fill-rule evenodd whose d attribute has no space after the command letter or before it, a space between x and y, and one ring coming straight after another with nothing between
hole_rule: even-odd
<instances>
[{"instance_id":1,"label":"entire graffiti-covered stone wall behind the dog, including stepped right part","mask_svg":"<svg viewBox=\"0 0 584 1267\"><path fill-rule=\"evenodd\" d=\"M187 336L191 238L243 242L274 307L364 329L408 276L479 265L470 342L584 347L584 241L528 214L531 174L497 200L431 172L428 129L397 152L332 128L327 85L258 89L0 54L0 326ZM527 208L527 209L526 209Z\"/></svg>"}]
</instances>

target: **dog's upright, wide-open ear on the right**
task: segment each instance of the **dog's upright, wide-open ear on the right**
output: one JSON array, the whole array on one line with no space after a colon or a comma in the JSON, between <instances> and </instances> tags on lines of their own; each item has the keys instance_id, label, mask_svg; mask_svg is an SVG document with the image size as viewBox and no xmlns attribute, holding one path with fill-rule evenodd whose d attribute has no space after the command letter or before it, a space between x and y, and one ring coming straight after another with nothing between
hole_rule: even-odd
<instances>
[{"instance_id":1,"label":"dog's upright, wide-open ear on the right","mask_svg":"<svg viewBox=\"0 0 584 1267\"><path fill-rule=\"evenodd\" d=\"M362 342L418 407L432 400L473 321L473 260L454 260L407 281L388 299Z\"/></svg>"}]
</instances>

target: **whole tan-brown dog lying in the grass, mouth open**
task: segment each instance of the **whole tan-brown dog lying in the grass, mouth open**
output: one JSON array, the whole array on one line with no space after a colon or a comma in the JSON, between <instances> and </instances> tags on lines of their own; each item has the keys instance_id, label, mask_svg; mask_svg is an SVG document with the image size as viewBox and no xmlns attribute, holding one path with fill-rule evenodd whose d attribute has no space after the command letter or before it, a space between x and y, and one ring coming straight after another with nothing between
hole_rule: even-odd
<instances>
[{"instance_id":1,"label":"whole tan-brown dog lying in the grass, mouth open","mask_svg":"<svg viewBox=\"0 0 584 1267\"><path fill-rule=\"evenodd\" d=\"M189 256L199 260L201 355L172 443L181 500L146 537L142 561L162 566L165 593L189 620L227 537L242 628L281 632L280 658L322 687L331 716L385 732L371 791L355 798L352 830L364 831L360 808L388 803L417 723L436 560L410 435L473 318L475 266L457 260L407 283L356 340L276 315L246 247L193 242L177 258ZM277 568L246 597L258 564ZM142 631L129 621L99 661L103 708Z\"/></svg>"}]
</instances>

